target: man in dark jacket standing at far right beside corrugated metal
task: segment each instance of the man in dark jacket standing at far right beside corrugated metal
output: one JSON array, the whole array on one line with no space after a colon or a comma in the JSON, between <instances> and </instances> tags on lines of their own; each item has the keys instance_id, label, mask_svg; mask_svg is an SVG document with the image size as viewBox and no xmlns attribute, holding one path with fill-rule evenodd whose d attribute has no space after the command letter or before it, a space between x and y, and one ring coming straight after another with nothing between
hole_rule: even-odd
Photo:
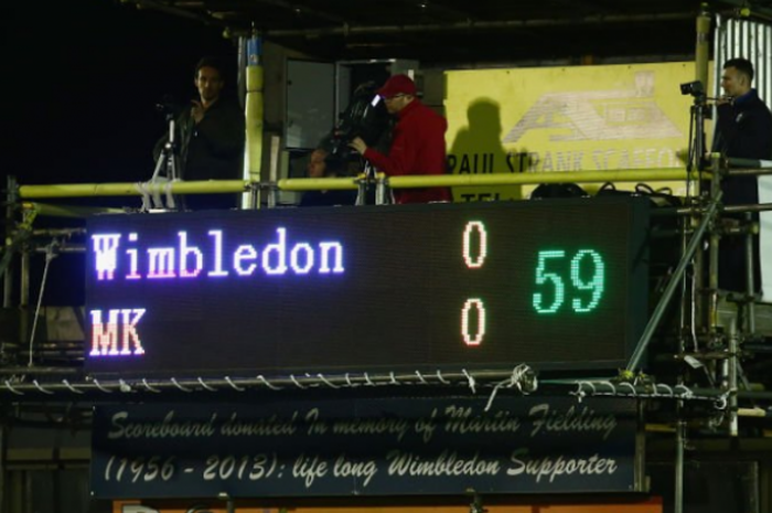
<instances>
[{"instance_id":1,"label":"man in dark jacket standing at far right beside corrugated metal","mask_svg":"<svg viewBox=\"0 0 772 513\"><path fill-rule=\"evenodd\" d=\"M721 87L727 98L717 104L718 119L714 151L741 159L772 159L772 113L751 87L753 65L744 58L723 64ZM757 177L729 177L721 181L723 203L747 205L759 203ZM758 218L758 216L754 216ZM753 249L754 290L760 288L758 236ZM719 287L746 290L744 242L725 237L720 245Z\"/></svg>"}]
</instances>

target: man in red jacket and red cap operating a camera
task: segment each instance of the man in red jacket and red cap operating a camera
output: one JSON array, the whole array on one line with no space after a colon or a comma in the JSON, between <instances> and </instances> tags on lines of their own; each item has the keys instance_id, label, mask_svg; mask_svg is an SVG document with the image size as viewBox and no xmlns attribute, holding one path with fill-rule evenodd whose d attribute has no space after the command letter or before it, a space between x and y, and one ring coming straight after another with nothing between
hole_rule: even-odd
<instances>
[{"instance_id":1,"label":"man in red jacket and red cap operating a camera","mask_svg":"<svg viewBox=\"0 0 772 513\"><path fill-rule=\"evenodd\" d=\"M388 154L368 148L358 137L350 146L389 177L444 174L448 121L416 98L416 84L407 75L392 76L377 93L398 118ZM394 196L397 203L451 201L447 188L400 189Z\"/></svg>"}]
</instances>

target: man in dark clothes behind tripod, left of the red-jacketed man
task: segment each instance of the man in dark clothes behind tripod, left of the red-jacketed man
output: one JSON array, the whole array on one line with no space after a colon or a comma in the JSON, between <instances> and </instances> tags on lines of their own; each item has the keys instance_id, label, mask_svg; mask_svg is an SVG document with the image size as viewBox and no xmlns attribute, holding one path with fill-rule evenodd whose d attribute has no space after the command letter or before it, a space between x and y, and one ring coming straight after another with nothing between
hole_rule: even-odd
<instances>
[{"instance_id":1,"label":"man in dark clothes behind tripod, left of the red-jacketed man","mask_svg":"<svg viewBox=\"0 0 772 513\"><path fill-rule=\"evenodd\" d=\"M199 99L191 101L176 117L175 140L179 141L180 177L194 180L238 180L244 162L244 113L235 101L222 96L224 67L213 57L204 57L195 66L194 85ZM156 145L158 160L169 136ZM189 210L233 209L238 194L190 194L184 197Z\"/></svg>"}]
</instances>

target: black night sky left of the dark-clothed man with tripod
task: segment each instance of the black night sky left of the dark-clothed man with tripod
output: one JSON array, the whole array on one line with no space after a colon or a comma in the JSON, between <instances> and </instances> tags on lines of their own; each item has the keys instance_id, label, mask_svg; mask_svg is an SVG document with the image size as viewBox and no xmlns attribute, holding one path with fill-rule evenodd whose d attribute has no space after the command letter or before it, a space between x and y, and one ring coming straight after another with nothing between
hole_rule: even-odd
<instances>
[{"instance_id":1,"label":"black night sky left of the dark-clothed man with tripod","mask_svg":"<svg viewBox=\"0 0 772 513\"><path fill-rule=\"evenodd\" d=\"M22 184L144 181L165 129L157 103L196 97L203 55L229 57L235 85L236 47L217 28L118 0L2 10L2 173Z\"/></svg>"}]
</instances>

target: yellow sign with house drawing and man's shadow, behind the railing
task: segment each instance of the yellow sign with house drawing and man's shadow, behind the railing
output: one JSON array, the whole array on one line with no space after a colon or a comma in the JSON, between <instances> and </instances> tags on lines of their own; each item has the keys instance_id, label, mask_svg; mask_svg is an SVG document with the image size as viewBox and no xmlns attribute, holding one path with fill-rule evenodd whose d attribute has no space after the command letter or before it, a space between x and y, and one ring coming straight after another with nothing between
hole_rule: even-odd
<instances>
[{"instance_id":1,"label":"yellow sign with house drawing and man's shadow, behind the railing","mask_svg":"<svg viewBox=\"0 0 772 513\"><path fill-rule=\"evenodd\" d=\"M679 85L694 73L694 63L447 72L449 167L454 174L685 169L676 153L689 143L693 98ZM527 192L453 191L455 201Z\"/></svg>"}]
</instances>

